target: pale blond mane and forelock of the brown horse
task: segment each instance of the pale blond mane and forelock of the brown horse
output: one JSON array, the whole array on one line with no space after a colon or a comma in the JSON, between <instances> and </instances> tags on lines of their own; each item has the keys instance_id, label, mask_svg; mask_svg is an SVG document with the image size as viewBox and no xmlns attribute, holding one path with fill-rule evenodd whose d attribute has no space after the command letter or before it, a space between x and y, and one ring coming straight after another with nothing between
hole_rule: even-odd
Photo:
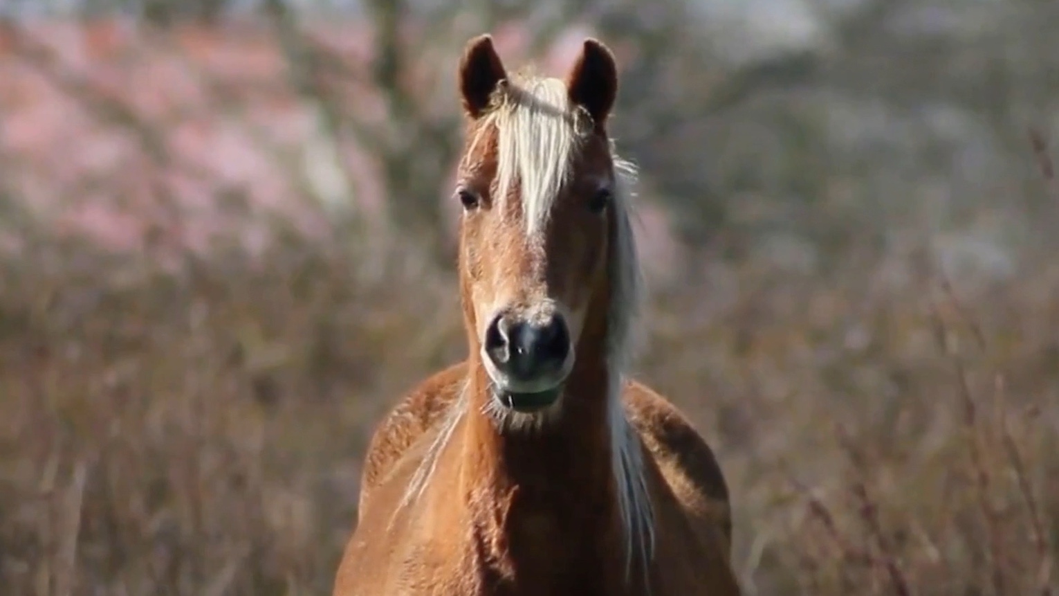
<instances>
[{"instance_id":1,"label":"pale blond mane and forelock of the brown horse","mask_svg":"<svg viewBox=\"0 0 1059 596\"><path fill-rule=\"evenodd\" d=\"M521 185L522 211L531 238L546 222L552 205L570 176L573 158L593 134L587 111L571 104L566 82L523 71L503 81L482 116L465 157L474 155L486 133L496 130L497 183L495 197L502 200L516 179ZM634 322L643 301L643 277L632 230L635 166L617 156L608 140L614 163L612 212L615 220L611 259L610 310L607 313L606 355L608 364L607 422L610 430L611 468L616 483L617 506L625 534L626 573L633 558L646 572L653 555L654 514L648 494L643 451L636 431L622 403L625 370L635 345ZM397 511L421 494L437 459L465 416L470 400L467 387L453 401L437 428Z\"/></svg>"}]
</instances>

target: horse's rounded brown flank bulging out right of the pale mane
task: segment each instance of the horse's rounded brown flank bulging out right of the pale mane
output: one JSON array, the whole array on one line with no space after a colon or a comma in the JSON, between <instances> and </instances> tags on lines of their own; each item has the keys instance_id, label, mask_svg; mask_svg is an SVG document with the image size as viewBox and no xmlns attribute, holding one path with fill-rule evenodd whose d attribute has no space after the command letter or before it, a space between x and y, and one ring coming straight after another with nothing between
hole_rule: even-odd
<instances>
[{"instance_id":1,"label":"horse's rounded brown flank bulging out right of the pale mane","mask_svg":"<svg viewBox=\"0 0 1059 596\"><path fill-rule=\"evenodd\" d=\"M720 529L731 549L729 487L705 439L680 409L643 383L628 382L623 401L629 422L682 508L700 527Z\"/></svg>"}]
</instances>

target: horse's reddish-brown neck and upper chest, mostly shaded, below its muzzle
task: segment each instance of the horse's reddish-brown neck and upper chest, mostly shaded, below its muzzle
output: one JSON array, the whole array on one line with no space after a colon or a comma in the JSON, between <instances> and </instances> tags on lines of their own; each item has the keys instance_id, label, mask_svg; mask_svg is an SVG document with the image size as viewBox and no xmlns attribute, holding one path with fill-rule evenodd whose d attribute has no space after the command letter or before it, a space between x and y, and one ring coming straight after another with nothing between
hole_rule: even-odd
<instances>
[{"instance_id":1,"label":"horse's reddish-brown neck and upper chest, mostly shaded, below its muzzle","mask_svg":"<svg viewBox=\"0 0 1059 596\"><path fill-rule=\"evenodd\" d=\"M561 413L539 427L498 424L485 407L491 399L486 373L471 357L462 491L478 531L507 545L492 556L518 566L521 577L539 576L542 586L599 584L594 573L606 575L623 563L603 339L582 334ZM563 560L571 568L557 564Z\"/></svg>"}]
</instances>

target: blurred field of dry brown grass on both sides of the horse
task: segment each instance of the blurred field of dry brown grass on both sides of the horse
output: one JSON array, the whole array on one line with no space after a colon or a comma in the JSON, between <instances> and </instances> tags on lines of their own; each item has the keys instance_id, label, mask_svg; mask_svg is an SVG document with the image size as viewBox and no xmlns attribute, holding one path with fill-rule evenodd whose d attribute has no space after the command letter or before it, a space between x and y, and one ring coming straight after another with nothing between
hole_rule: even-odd
<instances>
[{"instance_id":1,"label":"blurred field of dry brown grass on both sides of the horse","mask_svg":"<svg viewBox=\"0 0 1059 596\"><path fill-rule=\"evenodd\" d=\"M367 432L462 352L451 280L32 255L0 299L4 594L328 593ZM748 594L1056 593L1059 269L963 302L857 270L653 298L642 375L720 454Z\"/></svg>"}]
</instances>

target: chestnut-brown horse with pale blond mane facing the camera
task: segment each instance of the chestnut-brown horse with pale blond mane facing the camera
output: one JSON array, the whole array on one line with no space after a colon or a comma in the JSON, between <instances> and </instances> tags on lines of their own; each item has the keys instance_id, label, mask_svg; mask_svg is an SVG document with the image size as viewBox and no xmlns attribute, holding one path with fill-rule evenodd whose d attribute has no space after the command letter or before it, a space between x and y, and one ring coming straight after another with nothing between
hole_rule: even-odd
<instances>
[{"instance_id":1,"label":"chestnut-brown horse with pale blond mane facing the camera","mask_svg":"<svg viewBox=\"0 0 1059 596\"><path fill-rule=\"evenodd\" d=\"M459 76L469 356L372 438L335 596L738 595L713 453L623 378L641 278L613 56L588 39L564 80L508 75L483 35Z\"/></svg>"}]
</instances>

